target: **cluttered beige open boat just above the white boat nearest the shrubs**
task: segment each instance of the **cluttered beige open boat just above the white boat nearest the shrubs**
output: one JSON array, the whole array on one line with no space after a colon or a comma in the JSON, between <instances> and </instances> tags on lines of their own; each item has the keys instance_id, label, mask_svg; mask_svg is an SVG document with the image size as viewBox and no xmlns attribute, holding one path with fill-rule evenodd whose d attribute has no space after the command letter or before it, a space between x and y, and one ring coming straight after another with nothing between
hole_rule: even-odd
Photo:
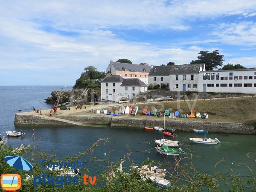
<instances>
[{"instance_id":1,"label":"cluttered beige open boat just above the white boat nearest the shrubs","mask_svg":"<svg viewBox=\"0 0 256 192\"><path fill-rule=\"evenodd\" d=\"M137 164L134 164L134 166L131 167L132 170L138 169L140 174L143 175L144 177L151 177L151 176L157 176L160 178L164 178L166 175L166 169L158 169L157 172L155 173L153 171L153 167L144 165L142 167L139 167Z\"/></svg>"}]
</instances>

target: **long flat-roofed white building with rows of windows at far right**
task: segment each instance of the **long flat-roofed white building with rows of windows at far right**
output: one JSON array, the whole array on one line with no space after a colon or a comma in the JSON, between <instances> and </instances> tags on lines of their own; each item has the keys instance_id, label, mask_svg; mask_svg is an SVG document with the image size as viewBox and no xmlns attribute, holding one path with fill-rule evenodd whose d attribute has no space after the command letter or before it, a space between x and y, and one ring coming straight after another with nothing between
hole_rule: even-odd
<instances>
[{"instance_id":1,"label":"long flat-roofed white building with rows of windows at far right","mask_svg":"<svg viewBox=\"0 0 256 192\"><path fill-rule=\"evenodd\" d=\"M256 69L201 71L198 84L200 92L256 93Z\"/></svg>"}]
</instances>

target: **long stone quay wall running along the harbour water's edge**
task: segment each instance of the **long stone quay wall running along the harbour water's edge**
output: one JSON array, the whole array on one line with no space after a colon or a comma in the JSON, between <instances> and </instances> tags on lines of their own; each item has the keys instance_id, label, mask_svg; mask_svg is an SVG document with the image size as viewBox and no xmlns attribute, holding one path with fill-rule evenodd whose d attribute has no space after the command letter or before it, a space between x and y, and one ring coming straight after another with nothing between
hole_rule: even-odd
<instances>
[{"instance_id":1,"label":"long stone quay wall running along the harbour water's edge","mask_svg":"<svg viewBox=\"0 0 256 192\"><path fill-rule=\"evenodd\" d=\"M111 127L163 127L163 119L140 119L126 118L117 116L104 115L58 115L56 118L44 118L35 115L23 115L22 113L15 114L15 125L72 125L67 121L81 122L83 125L110 125ZM175 119L166 119L166 128L175 128L178 131L191 131L192 129L202 129L210 132L221 133L239 133L239 134L256 134L253 126L244 125L243 123L232 122L202 122L202 121L182 121Z\"/></svg>"}]
</instances>

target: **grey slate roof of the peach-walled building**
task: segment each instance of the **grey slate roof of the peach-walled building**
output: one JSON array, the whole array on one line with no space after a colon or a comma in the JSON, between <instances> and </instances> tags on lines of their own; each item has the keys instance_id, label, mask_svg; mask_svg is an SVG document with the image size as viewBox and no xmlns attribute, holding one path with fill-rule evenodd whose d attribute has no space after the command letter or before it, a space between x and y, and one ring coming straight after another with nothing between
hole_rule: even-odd
<instances>
[{"instance_id":1,"label":"grey slate roof of the peach-walled building","mask_svg":"<svg viewBox=\"0 0 256 192\"><path fill-rule=\"evenodd\" d=\"M149 73L151 70L151 66L149 65L138 65L138 64L130 64L130 63L119 63L112 62L115 70L122 71L123 67L125 67L126 71L134 71L134 72L143 72L143 69L146 70L146 73Z\"/></svg>"}]
</instances>

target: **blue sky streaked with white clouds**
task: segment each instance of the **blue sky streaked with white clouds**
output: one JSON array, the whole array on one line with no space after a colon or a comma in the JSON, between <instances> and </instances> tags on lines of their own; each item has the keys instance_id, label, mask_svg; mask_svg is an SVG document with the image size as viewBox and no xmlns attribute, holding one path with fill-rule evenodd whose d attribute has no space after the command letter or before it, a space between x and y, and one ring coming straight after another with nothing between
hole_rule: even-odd
<instances>
[{"instance_id":1,"label":"blue sky streaked with white clouds","mask_svg":"<svg viewBox=\"0 0 256 192\"><path fill-rule=\"evenodd\" d=\"M0 84L74 85L110 60L189 64L219 50L256 67L255 0L0 1Z\"/></svg>"}]
</instances>

